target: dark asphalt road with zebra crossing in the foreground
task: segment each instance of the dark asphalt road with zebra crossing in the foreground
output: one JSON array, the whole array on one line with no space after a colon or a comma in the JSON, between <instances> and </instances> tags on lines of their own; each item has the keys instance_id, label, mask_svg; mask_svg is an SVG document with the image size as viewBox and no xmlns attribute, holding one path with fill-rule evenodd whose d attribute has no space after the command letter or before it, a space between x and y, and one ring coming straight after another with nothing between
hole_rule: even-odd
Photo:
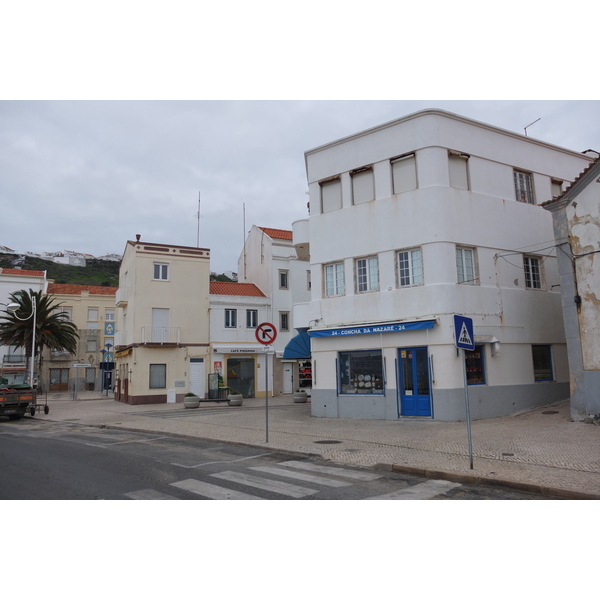
<instances>
[{"instance_id":1,"label":"dark asphalt road with zebra crossing in the foreground","mask_svg":"<svg viewBox=\"0 0 600 600\"><path fill-rule=\"evenodd\" d=\"M483 486L335 465L267 449L0 420L2 500L521 500Z\"/></svg>"}]
</instances>

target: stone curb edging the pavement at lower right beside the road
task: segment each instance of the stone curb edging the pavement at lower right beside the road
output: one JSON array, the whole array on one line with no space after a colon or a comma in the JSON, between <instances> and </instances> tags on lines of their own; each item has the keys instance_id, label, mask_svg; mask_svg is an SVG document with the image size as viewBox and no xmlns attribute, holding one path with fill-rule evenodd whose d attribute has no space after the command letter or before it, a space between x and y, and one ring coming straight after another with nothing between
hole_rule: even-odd
<instances>
[{"instance_id":1,"label":"stone curb edging the pavement at lower right beside the road","mask_svg":"<svg viewBox=\"0 0 600 600\"><path fill-rule=\"evenodd\" d=\"M551 496L561 500L600 500L599 494L590 494L588 492L576 492L563 488L554 488L544 485L535 485L523 483L520 481L511 481L508 479L498 479L497 477L486 477L485 475L468 475L465 473L456 473L453 471L438 471L424 467L409 467L396 464L377 464L374 468L387 469L407 475L417 475L428 479L444 479L446 481L456 481L457 483L467 483L471 485L484 485L488 487L499 487L515 490L518 492L527 492L539 496Z\"/></svg>"}]
</instances>

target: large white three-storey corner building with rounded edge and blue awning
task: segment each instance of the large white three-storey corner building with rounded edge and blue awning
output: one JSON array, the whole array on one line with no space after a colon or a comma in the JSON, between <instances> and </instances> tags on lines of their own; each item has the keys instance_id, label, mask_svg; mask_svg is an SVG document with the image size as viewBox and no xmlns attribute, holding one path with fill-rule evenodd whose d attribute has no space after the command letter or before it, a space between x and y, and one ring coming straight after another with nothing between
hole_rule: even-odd
<instances>
[{"instance_id":1,"label":"large white three-storey corner building with rounded edge and blue awning","mask_svg":"<svg viewBox=\"0 0 600 600\"><path fill-rule=\"evenodd\" d=\"M569 397L539 205L588 157L425 110L305 160L310 217L293 241L309 245L312 295L294 310L310 327L314 416L462 420L465 369L473 418ZM454 315L474 323L464 362Z\"/></svg>"}]
</instances>

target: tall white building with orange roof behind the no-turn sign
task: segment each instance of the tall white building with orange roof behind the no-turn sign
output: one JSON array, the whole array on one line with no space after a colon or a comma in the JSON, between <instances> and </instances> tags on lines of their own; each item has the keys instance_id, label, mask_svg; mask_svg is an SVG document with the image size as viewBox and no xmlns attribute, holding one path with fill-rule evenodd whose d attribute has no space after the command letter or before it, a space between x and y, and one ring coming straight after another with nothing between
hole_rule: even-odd
<instances>
[{"instance_id":1,"label":"tall white building with orange roof behind the no-turn sign","mask_svg":"<svg viewBox=\"0 0 600 600\"><path fill-rule=\"evenodd\" d=\"M266 322L277 330L273 343L273 386L275 394L290 394L308 382L302 358L284 353L292 338L299 335L292 322L293 302L310 300L310 263L292 243L292 231L252 226L238 261L238 281L256 284L268 298ZM307 257L306 257L307 258ZM293 299L293 300L292 300Z\"/></svg>"}]
</instances>

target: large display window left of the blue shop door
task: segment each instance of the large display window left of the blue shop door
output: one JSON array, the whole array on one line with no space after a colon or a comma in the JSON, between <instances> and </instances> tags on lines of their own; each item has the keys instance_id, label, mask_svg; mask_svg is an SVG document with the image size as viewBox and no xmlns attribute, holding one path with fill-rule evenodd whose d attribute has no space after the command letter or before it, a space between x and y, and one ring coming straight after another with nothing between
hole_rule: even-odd
<instances>
[{"instance_id":1,"label":"large display window left of the blue shop door","mask_svg":"<svg viewBox=\"0 0 600 600\"><path fill-rule=\"evenodd\" d=\"M340 393L383 394L381 350L340 352Z\"/></svg>"}]
</instances>

